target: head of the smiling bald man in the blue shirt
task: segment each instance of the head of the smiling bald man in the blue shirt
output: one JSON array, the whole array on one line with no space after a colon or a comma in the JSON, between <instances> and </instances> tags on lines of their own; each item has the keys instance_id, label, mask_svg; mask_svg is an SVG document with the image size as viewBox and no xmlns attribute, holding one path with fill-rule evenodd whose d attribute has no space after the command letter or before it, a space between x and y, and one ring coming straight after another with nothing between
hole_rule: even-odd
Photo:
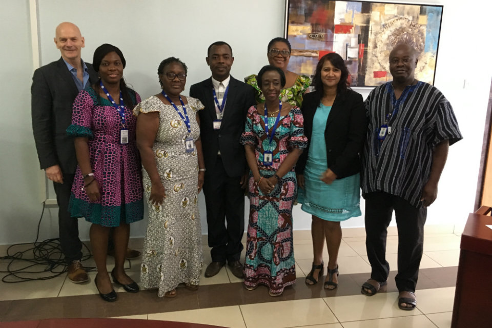
<instances>
[{"instance_id":1,"label":"head of the smiling bald man in the blue shirt","mask_svg":"<svg viewBox=\"0 0 492 328\"><path fill-rule=\"evenodd\" d=\"M85 40L75 24L60 23L56 27L54 41L63 59L72 65L80 62L80 51L85 47Z\"/></svg>"}]
</instances>

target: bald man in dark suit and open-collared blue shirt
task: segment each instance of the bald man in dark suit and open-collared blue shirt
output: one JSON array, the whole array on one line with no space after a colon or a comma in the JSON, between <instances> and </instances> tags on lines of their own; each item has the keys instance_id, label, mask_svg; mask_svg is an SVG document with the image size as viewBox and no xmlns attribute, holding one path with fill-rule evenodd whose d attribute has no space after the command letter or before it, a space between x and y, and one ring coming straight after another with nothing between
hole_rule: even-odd
<instances>
[{"instance_id":1,"label":"bald man in dark suit and open-collared blue shirt","mask_svg":"<svg viewBox=\"0 0 492 328\"><path fill-rule=\"evenodd\" d=\"M53 181L58 203L61 251L72 282L88 281L81 265L82 243L78 221L70 217L68 203L77 158L73 139L65 130L72 121L72 103L80 90L97 81L91 64L84 63L80 51L85 40L78 27L61 23L56 27L55 45L61 58L34 71L31 86L32 129L41 169Z\"/></svg>"}]
</instances>

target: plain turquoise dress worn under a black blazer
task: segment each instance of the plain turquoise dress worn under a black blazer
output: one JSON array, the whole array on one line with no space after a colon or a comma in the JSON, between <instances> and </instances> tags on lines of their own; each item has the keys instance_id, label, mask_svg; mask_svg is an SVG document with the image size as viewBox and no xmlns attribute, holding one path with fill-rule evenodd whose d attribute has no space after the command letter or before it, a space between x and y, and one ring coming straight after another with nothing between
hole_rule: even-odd
<instances>
[{"instance_id":1,"label":"plain turquoise dress worn under a black blazer","mask_svg":"<svg viewBox=\"0 0 492 328\"><path fill-rule=\"evenodd\" d=\"M332 107L320 106L313 118L313 133L304 168L304 190L299 188L301 209L327 221L344 221L360 216L360 174L336 179L331 185L320 180L327 169L324 130Z\"/></svg>"}]
</instances>

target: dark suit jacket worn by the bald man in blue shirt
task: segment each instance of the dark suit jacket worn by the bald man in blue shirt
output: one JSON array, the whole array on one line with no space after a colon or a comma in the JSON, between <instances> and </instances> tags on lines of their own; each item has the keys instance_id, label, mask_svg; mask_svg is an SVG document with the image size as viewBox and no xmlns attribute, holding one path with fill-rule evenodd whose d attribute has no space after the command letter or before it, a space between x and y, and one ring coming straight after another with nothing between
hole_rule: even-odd
<instances>
[{"instance_id":1,"label":"dark suit jacket worn by the bald man in blue shirt","mask_svg":"<svg viewBox=\"0 0 492 328\"><path fill-rule=\"evenodd\" d=\"M89 84L97 81L91 64ZM72 104L78 89L63 58L34 71L31 86L32 130L41 169L59 165L61 172L75 173L77 158L73 138L65 132L72 122Z\"/></svg>"}]
</instances>

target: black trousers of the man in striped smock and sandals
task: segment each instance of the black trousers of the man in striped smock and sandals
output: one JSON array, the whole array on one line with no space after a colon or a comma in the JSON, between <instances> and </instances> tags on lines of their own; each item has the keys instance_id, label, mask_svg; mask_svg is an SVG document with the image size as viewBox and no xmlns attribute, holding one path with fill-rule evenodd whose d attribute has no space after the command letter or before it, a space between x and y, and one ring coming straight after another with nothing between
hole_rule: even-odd
<instances>
[{"instance_id":1,"label":"black trousers of the man in striped smock and sandals","mask_svg":"<svg viewBox=\"0 0 492 328\"><path fill-rule=\"evenodd\" d=\"M393 211L395 211L398 228L396 286L400 292L415 292L423 254L427 209L416 208L403 198L382 191L365 195L365 245L367 257L371 263L371 278L377 281L388 279L386 229Z\"/></svg>"}]
</instances>

